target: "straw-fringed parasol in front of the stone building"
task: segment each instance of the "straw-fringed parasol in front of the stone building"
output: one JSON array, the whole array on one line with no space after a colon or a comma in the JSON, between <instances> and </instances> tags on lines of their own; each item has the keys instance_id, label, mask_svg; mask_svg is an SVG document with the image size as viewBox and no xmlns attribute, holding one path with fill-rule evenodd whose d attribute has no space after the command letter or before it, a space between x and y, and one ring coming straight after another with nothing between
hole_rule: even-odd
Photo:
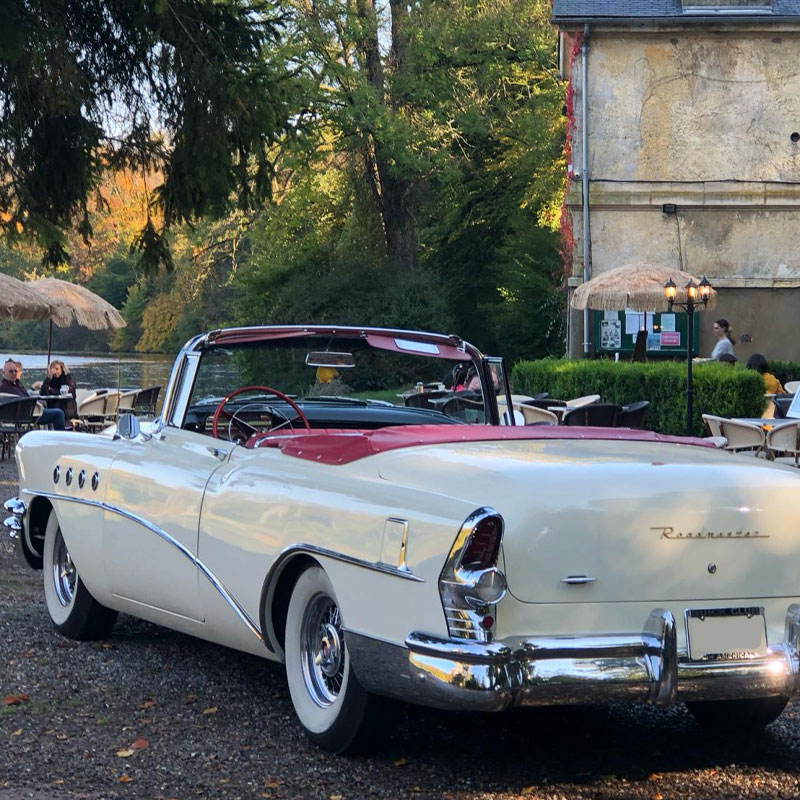
<instances>
[{"instance_id":1,"label":"straw-fringed parasol in front of the stone building","mask_svg":"<svg viewBox=\"0 0 800 800\"><path fill-rule=\"evenodd\" d=\"M597 311L668 311L664 284L668 280L678 287L676 303L686 302L686 284L699 283L694 275L674 267L657 264L626 264L608 272L601 272L579 286L572 295L573 308L593 308ZM705 308L711 310L717 304L717 293L713 289ZM698 311L700 308L697 309Z\"/></svg>"}]
</instances>

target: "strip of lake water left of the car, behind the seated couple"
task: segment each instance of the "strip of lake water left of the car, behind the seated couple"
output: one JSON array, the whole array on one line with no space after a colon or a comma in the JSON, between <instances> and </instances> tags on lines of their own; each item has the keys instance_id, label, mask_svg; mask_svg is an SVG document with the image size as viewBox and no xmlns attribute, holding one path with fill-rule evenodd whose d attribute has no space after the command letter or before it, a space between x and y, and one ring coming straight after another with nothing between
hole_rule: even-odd
<instances>
[{"instance_id":1,"label":"strip of lake water left of the car, behind the seated couple","mask_svg":"<svg viewBox=\"0 0 800 800\"><path fill-rule=\"evenodd\" d=\"M46 353L7 353L0 356L2 361L13 358L22 362L22 383L28 389L31 384L44 380L47 376ZM160 400L167 386L175 356L141 353L78 355L55 352L50 356L50 360L56 359L67 365L67 369L75 376L79 389L101 387L143 389L148 386L161 386Z\"/></svg>"}]
</instances>

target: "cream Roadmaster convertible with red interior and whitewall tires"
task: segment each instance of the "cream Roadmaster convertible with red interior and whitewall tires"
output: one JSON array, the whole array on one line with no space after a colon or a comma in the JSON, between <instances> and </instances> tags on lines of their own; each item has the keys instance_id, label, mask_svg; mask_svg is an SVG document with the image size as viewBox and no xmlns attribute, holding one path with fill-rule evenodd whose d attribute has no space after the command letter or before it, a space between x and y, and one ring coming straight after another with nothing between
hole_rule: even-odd
<instances>
[{"instance_id":1,"label":"cream Roadmaster convertible with red interior and whitewall tires","mask_svg":"<svg viewBox=\"0 0 800 800\"><path fill-rule=\"evenodd\" d=\"M438 386L465 368L468 391ZM800 666L797 472L521 426L507 383L455 336L213 331L152 423L26 435L5 524L61 633L124 612L283 662L335 752L371 741L383 698L775 719Z\"/></svg>"}]
</instances>

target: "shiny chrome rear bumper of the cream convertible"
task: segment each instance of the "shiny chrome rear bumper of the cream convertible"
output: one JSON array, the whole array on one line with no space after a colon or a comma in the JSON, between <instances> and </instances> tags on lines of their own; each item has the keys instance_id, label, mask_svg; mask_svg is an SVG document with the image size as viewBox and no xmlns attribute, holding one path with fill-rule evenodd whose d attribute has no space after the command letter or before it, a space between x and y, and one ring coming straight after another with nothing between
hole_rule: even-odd
<instances>
[{"instance_id":1,"label":"shiny chrome rear bumper of the cream convertible","mask_svg":"<svg viewBox=\"0 0 800 800\"><path fill-rule=\"evenodd\" d=\"M489 644L412 633L406 647L346 633L362 685L436 708L500 711L510 706L715 700L783 695L800 688L800 605L786 613L784 641L764 658L690 661L678 651L675 619L654 609L641 633L532 637Z\"/></svg>"}]
</instances>

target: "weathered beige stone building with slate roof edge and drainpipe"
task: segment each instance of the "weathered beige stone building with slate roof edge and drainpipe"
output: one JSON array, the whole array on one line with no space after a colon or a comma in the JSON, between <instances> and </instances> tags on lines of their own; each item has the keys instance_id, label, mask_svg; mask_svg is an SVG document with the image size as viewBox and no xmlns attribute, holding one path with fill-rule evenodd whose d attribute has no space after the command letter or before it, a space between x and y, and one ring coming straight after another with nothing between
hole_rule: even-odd
<instances>
[{"instance_id":1,"label":"weathered beige stone building with slate roof edge and drainpipe","mask_svg":"<svg viewBox=\"0 0 800 800\"><path fill-rule=\"evenodd\" d=\"M725 317L740 361L800 361L800 0L553 0L552 19L570 292L623 264L682 265L718 290L701 355ZM596 351L585 319L570 312L572 356Z\"/></svg>"}]
</instances>

